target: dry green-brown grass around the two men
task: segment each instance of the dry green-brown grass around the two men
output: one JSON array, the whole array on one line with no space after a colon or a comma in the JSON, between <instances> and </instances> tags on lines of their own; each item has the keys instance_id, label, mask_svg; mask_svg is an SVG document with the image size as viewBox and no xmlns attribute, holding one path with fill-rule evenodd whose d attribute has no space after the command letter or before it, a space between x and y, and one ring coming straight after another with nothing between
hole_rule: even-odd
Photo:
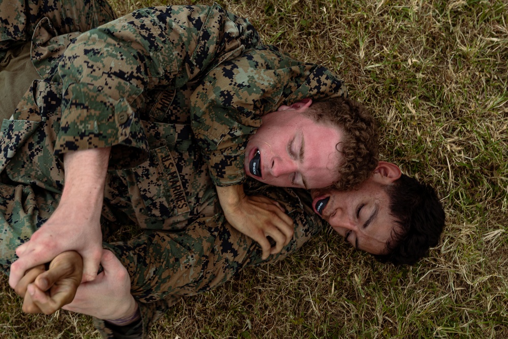
<instances>
[{"instance_id":1,"label":"dry green-brown grass around the two men","mask_svg":"<svg viewBox=\"0 0 508 339\"><path fill-rule=\"evenodd\" d=\"M322 234L177 304L152 338L508 337L508 0L218 3L338 73L379 118L382 160L433 184L447 226L429 258L402 268ZM99 337L89 317L20 314L7 286L2 338Z\"/></svg>"}]
</instances>

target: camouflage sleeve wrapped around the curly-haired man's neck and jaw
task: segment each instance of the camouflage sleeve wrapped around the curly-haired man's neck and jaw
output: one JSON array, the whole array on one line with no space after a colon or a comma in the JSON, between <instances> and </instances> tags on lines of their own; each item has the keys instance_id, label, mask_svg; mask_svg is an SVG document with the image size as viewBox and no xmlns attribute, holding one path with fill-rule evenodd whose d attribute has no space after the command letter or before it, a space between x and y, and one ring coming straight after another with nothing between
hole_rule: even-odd
<instances>
[{"instance_id":1,"label":"camouflage sleeve wrapped around the curly-haired man's neck and jaw","mask_svg":"<svg viewBox=\"0 0 508 339\"><path fill-rule=\"evenodd\" d=\"M260 46L212 70L191 98L193 131L216 186L245 179L244 149L261 117L281 104L343 95L326 68L302 63L273 46Z\"/></svg>"}]
</instances>

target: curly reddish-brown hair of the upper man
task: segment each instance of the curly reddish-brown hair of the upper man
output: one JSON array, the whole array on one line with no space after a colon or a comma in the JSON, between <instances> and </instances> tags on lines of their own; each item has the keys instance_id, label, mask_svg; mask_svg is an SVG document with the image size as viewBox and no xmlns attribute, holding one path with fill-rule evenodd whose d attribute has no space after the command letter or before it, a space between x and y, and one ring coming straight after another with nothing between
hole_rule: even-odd
<instances>
[{"instance_id":1,"label":"curly reddish-brown hair of the upper man","mask_svg":"<svg viewBox=\"0 0 508 339\"><path fill-rule=\"evenodd\" d=\"M376 121L366 107L354 100L337 97L313 102L304 114L315 122L337 126L344 132L340 151L343 160L338 167L334 188L352 189L370 177L377 166L379 141Z\"/></svg>"}]
</instances>

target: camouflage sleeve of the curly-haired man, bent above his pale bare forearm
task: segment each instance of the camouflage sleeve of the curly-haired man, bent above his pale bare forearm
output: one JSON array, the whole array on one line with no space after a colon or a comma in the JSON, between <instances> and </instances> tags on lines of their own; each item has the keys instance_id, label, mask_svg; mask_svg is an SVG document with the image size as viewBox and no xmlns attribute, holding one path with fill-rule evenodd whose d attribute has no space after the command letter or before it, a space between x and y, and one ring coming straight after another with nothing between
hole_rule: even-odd
<instances>
[{"instance_id":1,"label":"camouflage sleeve of the curly-haired man, bent above his pale bare forearm","mask_svg":"<svg viewBox=\"0 0 508 339\"><path fill-rule=\"evenodd\" d=\"M63 103L56 154L113 146L111 168L144 161L143 95L197 81L258 40L248 21L218 5L138 10L81 35L59 64Z\"/></svg>"}]
</instances>

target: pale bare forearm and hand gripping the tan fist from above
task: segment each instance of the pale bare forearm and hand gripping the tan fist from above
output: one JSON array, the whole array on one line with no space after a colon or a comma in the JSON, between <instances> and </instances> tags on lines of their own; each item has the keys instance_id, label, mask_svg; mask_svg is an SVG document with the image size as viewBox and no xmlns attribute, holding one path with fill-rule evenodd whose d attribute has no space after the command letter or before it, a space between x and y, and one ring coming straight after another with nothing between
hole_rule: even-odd
<instances>
[{"instance_id":1,"label":"pale bare forearm and hand gripping the tan fist from above","mask_svg":"<svg viewBox=\"0 0 508 339\"><path fill-rule=\"evenodd\" d=\"M110 148L66 153L65 185L58 207L30 240L16 249L19 259L11 265L9 285L15 288L25 272L50 262L65 251L83 258L82 280L93 280L102 254L100 226L104 185Z\"/></svg>"}]
</instances>

